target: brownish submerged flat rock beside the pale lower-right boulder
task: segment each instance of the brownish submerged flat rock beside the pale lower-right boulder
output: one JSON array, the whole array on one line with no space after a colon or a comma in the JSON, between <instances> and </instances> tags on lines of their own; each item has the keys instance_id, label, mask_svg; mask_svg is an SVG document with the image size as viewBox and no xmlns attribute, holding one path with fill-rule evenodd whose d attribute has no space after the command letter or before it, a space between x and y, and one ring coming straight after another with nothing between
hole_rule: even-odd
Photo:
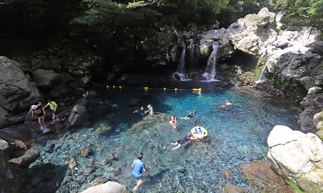
<instances>
[{"instance_id":1,"label":"brownish submerged flat rock beside the pale lower-right boulder","mask_svg":"<svg viewBox=\"0 0 323 193\"><path fill-rule=\"evenodd\" d=\"M241 166L243 176L256 189L262 192L294 193L295 190L286 185L285 181L277 176L264 161Z\"/></svg>"}]
</instances>

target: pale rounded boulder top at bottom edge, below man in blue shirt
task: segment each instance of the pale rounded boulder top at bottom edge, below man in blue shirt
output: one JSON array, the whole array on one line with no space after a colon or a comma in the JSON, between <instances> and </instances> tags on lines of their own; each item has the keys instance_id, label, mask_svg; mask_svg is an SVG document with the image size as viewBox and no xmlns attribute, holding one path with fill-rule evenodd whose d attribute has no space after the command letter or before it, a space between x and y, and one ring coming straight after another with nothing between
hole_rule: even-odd
<instances>
[{"instance_id":1,"label":"pale rounded boulder top at bottom edge, below man in blue shirt","mask_svg":"<svg viewBox=\"0 0 323 193\"><path fill-rule=\"evenodd\" d=\"M109 181L105 184L92 186L81 193L131 193L131 191L125 185Z\"/></svg>"}]
</instances>

